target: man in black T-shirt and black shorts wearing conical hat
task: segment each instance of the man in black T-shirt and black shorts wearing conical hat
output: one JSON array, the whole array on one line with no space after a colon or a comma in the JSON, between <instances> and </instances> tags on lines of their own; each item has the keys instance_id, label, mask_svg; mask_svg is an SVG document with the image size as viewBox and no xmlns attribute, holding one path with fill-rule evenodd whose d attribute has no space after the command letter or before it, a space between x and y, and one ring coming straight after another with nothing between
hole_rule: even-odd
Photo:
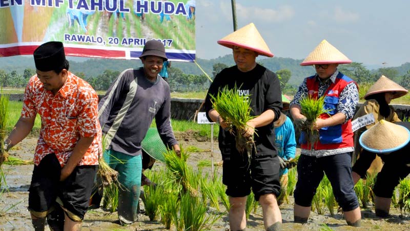
<instances>
[{"instance_id":1,"label":"man in black T-shirt and black shorts wearing conical hat","mask_svg":"<svg viewBox=\"0 0 410 231\"><path fill-rule=\"evenodd\" d=\"M265 229L281 230L282 217L276 200L280 194L280 167L273 129L273 122L279 118L282 109L280 83L275 73L256 63L259 54L269 57L273 54L253 23L222 38L218 44L233 49L236 65L215 76L204 106L208 119L221 127L218 139L223 160L222 182L227 185L226 193L231 204L231 230L246 227L245 204L251 188L262 206ZM248 129L244 133L245 137L250 137L256 129L258 134L254 137L256 150L250 159L243 158L236 149L235 137L224 130L227 128L224 118L212 108L210 95L217 95L223 87L233 89L235 86L239 87L238 94L248 97L251 113L256 116L247 122Z\"/></svg>"}]
</instances>

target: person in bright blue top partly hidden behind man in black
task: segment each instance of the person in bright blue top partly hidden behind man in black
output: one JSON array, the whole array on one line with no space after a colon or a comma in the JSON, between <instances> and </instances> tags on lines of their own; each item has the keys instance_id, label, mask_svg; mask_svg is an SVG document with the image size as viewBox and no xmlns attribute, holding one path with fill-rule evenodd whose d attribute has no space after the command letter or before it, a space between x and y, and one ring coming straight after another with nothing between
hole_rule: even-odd
<instances>
[{"instance_id":1,"label":"person in bright blue top partly hidden behind man in black","mask_svg":"<svg viewBox=\"0 0 410 231\"><path fill-rule=\"evenodd\" d=\"M282 94L283 109L280 112L279 119L273 123L275 128L275 142L278 149L278 157L280 163L280 187L282 188L283 195L286 193L288 187L288 168L291 168L290 161L295 158L296 155L296 140L295 140L295 128L284 111L289 110L290 101L285 95ZM278 204L283 203L283 197L278 198Z\"/></svg>"}]
</instances>

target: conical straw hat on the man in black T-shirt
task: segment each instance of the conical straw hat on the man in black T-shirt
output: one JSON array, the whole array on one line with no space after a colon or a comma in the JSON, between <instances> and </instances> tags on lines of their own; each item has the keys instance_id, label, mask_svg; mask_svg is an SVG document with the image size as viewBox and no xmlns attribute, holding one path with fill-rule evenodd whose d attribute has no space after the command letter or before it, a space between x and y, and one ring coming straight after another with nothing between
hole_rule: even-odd
<instances>
[{"instance_id":1,"label":"conical straw hat on the man in black T-shirt","mask_svg":"<svg viewBox=\"0 0 410 231\"><path fill-rule=\"evenodd\" d=\"M221 40L218 40L218 44L229 48L238 46L256 51L260 55L273 57L271 50L269 50L268 45L265 43L253 23L248 24L247 26L244 26L231 34L228 34Z\"/></svg>"}]
</instances>

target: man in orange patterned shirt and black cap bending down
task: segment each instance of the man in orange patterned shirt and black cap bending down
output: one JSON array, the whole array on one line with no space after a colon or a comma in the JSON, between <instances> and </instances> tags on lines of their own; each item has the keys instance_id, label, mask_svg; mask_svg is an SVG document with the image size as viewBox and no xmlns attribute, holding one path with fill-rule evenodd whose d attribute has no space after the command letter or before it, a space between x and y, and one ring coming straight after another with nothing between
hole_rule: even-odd
<instances>
[{"instance_id":1,"label":"man in orange patterned shirt and black cap bending down","mask_svg":"<svg viewBox=\"0 0 410 231\"><path fill-rule=\"evenodd\" d=\"M68 71L63 43L48 42L33 53L36 74L24 93L20 119L5 141L9 149L33 128L42 129L34 153L29 206L34 230L80 230L88 209L101 150L98 96Z\"/></svg>"}]
</instances>

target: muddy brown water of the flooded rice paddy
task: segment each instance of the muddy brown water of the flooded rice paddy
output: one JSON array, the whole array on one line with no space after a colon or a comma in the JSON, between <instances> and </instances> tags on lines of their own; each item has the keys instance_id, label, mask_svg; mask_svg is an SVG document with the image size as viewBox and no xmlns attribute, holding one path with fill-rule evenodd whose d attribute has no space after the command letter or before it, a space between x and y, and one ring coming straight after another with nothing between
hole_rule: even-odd
<instances>
[{"instance_id":1,"label":"muddy brown water of the flooded rice paddy","mask_svg":"<svg viewBox=\"0 0 410 231\"><path fill-rule=\"evenodd\" d=\"M22 144L11 151L11 155L24 160L30 160L33 156L35 142L35 138L24 140ZM197 142L191 139L186 141L180 139L180 142L184 147L196 146L200 149L208 150L191 154L189 162L193 166L196 166L199 160L210 160L210 142ZM215 144L215 147L214 161L218 162L220 161L220 153L218 153L217 144ZM4 167L7 172L7 183L10 191L4 192L0 196L0 230L33 230L30 215L27 211L27 189L31 181L33 167L30 165ZM155 164L153 170L160 167L162 167L161 164ZM221 174L220 168L218 169L218 174ZM223 209L222 205L220 207ZM360 228L347 226L341 214L336 214L332 217L326 209L324 215L317 215L315 212L312 212L308 224L293 223L292 197L290 197L289 203L282 204L280 209L283 219L283 230L320 230L323 224L326 224L333 230L410 230L410 215L404 214L400 216L400 211L393 207L391 208L392 216L386 219L377 218L372 206L368 209L362 209L363 219ZM214 209L210 209L210 213L215 213ZM221 218L210 227L210 230L229 230L228 215L225 211L221 213ZM144 215L139 216L138 222L128 226L120 226L117 221L116 213L109 213L103 209L90 209L86 214L82 230L167 230L158 221L149 221L149 218ZM264 230L260 207L256 213L251 214L247 224L247 231ZM46 230L49 229L46 228ZM175 228L171 228L171 230L175 230Z\"/></svg>"}]
</instances>

